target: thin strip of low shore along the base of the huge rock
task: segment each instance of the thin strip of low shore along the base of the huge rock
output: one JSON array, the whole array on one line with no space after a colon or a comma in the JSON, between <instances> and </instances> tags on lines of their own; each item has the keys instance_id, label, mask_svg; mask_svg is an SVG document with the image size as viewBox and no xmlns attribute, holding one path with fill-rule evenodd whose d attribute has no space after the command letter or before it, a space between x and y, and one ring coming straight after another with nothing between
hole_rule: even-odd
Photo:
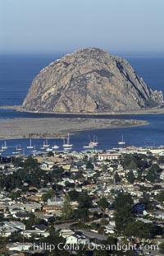
<instances>
[{"instance_id":1,"label":"thin strip of low shore along the base of the huge rock","mask_svg":"<svg viewBox=\"0 0 164 256\"><path fill-rule=\"evenodd\" d=\"M22 109L22 106L21 105L4 105L4 106L0 106L0 109L12 109L12 110L15 110L16 112L21 112L21 113L31 113L31 114L60 114L60 115L80 115L80 116L83 116L83 115L88 115L88 116L91 116L91 115L94 115L94 116L100 116L100 115L130 115L130 114L133 114L133 115L137 115L137 114L164 114L164 108L161 108L161 109L157 109L157 108L154 108L154 109L144 109L144 110L136 110L136 111L129 111L129 112L101 112L101 113L89 113L89 112L84 112L84 113L76 113L76 112L73 112L73 113L70 113L70 112L39 112L39 111L25 111L25 109Z\"/></svg>"}]
</instances>

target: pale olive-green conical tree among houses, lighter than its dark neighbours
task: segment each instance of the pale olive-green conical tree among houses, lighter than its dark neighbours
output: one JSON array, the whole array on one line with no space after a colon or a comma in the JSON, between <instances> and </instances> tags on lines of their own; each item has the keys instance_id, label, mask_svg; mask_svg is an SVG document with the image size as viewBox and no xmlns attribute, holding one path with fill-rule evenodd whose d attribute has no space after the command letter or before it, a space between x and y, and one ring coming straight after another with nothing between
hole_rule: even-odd
<instances>
[{"instance_id":1,"label":"pale olive-green conical tree among houses, lighter than its dark neighbours","mask_svg":"<svg viewBox=\"0 0 164 256\"><path fill-rule=\"evenodd\" d=\"M62 219L68 221L73 217L73 210L71 207L71 198L67 195L62 206Z\"/></svg>"}]
</instances>

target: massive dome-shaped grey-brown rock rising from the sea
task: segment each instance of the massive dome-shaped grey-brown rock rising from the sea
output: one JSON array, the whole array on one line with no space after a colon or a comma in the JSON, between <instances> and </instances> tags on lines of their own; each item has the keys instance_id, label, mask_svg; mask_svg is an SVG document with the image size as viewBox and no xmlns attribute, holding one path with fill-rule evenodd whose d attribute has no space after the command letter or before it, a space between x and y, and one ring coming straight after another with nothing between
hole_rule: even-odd
<instances>
[{"instance_id":1,"label":"massive dome-shaped grey-brown rock rising from the sea","mask_svg":"<svg viewBox=\"0 0 164 256\"><path fill-rule=\"evenodd\" d=\"M125 59L87 48L50 63L34 78L23 102L26 111L122 112L162 105Z\"/></svg>"}]
</instances>

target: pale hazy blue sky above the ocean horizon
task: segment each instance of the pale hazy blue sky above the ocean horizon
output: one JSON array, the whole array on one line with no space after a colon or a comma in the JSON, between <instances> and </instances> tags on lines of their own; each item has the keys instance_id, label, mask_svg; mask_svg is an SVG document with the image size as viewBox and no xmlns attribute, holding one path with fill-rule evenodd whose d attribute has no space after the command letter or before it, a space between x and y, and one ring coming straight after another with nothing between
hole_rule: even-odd
<instances>
[{"instance_id":1,"label":"pale hazy blue sky above the ocean horizon","mask_svg":"<svg viewBox=\"0 0 164 256\"><path fill-rule=\"evenodd\" d=\"M0 53L164 53L164 0L0 0Z\"/></svg>"}]
</instances>

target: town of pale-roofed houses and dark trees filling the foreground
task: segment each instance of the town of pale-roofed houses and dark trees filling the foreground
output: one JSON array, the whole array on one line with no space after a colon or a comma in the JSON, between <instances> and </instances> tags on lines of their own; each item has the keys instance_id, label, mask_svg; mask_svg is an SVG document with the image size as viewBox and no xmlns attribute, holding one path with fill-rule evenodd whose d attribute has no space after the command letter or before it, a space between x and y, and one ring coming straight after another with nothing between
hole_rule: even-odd
<instances>
[{"instance_id":1,"label":"town of pale-roofed houses and dark trees filling the foreground","mask_svg":"<svg viewBox=\"0 0 164 256\"><path fill-rule=\"evenodd\" d=\"M164 254L164 147L0 156L3 255Z\"/></svg>"}]
</instances>

